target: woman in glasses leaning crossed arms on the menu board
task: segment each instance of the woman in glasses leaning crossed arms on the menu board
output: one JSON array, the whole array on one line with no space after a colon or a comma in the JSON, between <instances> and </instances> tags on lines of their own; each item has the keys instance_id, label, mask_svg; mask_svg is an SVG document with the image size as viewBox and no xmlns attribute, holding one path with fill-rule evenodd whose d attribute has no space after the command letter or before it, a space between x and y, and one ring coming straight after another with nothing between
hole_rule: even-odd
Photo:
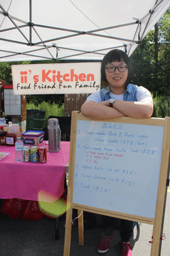
<instances>
[{"instance_id":1,"label":"woman in glasses leaning crossed arms on the menu board","mask_svg":"<svg viewBox=\"0 0 170 256\"><path fill-rule=\"evenodd\" d=\"M105 88L88 96L82 105L82 114L93 119L151 117L154 109L152 95L148 89L130 83L132 74L132 63L128 55L118 49L109 51L101 62L101 81ZM133 235L133 227L132 221L120 221L121 256L132 256L129 240ZM114 238L112 233L110 229L105 230L98 245L99 253L108 251Z\"/></svg>"}]
</instances>

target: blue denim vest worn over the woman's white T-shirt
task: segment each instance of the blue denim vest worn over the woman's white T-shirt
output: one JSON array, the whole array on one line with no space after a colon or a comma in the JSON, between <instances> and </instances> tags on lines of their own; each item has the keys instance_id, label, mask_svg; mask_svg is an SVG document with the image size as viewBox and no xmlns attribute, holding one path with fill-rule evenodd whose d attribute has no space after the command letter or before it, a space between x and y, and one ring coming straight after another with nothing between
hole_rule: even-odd
<instances>
[{"instance_id":1,"label":"blue denim vest worn over the woman's white T-shirt","mask_svg":"<svg viewBox=\"0 0 170 256\"><path fill-rule=\"evenodd\" d=\"M126 87L126 91L123 94L123 100L137 101L137 88L139 88L137 85L133 85L132 83L129 83L129 85ZM110 92L109 87L105 89L101 89L101 91L99 91L99 94L101 96L101 101L109 100L111 98L109 96L109 92Z\"/></svg>"}]
</instances>

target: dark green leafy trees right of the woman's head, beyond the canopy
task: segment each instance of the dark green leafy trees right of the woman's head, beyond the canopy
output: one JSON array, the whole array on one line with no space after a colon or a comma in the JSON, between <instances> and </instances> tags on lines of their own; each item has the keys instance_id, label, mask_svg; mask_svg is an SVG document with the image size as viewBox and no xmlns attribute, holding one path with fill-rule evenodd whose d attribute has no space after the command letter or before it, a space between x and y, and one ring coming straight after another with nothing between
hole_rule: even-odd
<instances>
[{"instance_id":1,"label":"dark green leafy trees right of the woman's head, beyond the canopy","mask_svg":"<svg viewBox=\"0 0 170 256\"><path fill-rule=\"evenodd\" d=\"M154 96L169 96L170 8L131 55L133 83L148 88Z\"/></svg>"}]
</instances>

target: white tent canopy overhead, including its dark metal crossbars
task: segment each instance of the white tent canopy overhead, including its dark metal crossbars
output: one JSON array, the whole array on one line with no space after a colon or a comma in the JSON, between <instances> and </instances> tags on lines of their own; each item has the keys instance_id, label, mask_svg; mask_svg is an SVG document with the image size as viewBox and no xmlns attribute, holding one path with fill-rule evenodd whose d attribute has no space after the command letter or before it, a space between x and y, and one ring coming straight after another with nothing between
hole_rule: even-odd
<instances>
[{"instance_id":1,"label":"white tent canopy overhead, including its dark metal crossbars","mask_svg":"<svg viewBox=\"0 0 170 256\"><path fill-rule=\"evenodd\" d=\"M1 0L0 61L130 56L169 0Z\"/></svg>"}]
</instances>

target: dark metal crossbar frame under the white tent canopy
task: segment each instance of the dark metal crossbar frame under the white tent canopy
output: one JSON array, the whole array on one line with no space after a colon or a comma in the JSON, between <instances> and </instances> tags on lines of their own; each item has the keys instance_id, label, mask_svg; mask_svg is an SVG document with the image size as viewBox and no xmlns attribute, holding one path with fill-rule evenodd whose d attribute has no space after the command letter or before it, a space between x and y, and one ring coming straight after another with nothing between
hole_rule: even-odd
<instances>
[{"instance_id":1,"label":"dark metal crossbar frame under the white tent canopy","mask_svg":"<svg viewBox=\"0 0 170 256\"><path fill-rule=\"evenodd\" d=\"M160 3L162 1L160 1ZM78 35L92 35L92 36L97 36L97 37L103 37L103 38L110 38L110 39L114 39L114 40L126 41L126 42L129 42L131 46L133 44L139 44L141 42L141 40L143 39L143 34L140 35L140 30L141 30L140 27L141 27L142 20L144 18L146 18L147 16L150 16L149 19L148 19L148 23L149 23L149 20L150 20L152 14L154 13L154 9L157 8L160 3L157 3L157 0L156 0L154 8L152 10L150 10L148 12L148 14L146 14L143 18L141 18L141 20L139 20L138 18L134 18L135 21L132 22L132 23L125 23L125 24L116 25L116 26L112 26L112 27L103 27L101 29L95 29L95 30L91 30L91 31L77 31L77 30L73 30L73 29L64 29L64 28L61 28L61 27L51 27L51 26L39 25L39 24L33 23L32 22L32 0L29 0L29 22L26 22L24 20L20 20L19 18L11 16L7 11L5 11L3 6L0 5L0 10L1 10L0 14L3 14L4 18L5 17L9 18L10 21L14 25L14 27L10 27L10 28L7 28L7 29L1 29L0 32L12 31L14 29L18 29L18 31L23 36L23 38L26 40L26 42L21 42L21 41L16 41L16 40L9 40L9 39L5 39L5 38L0 38L0 40L3 40L5 42L12 42L12 43L16 43L16 44L23 44L23 45L27 45L27 46L37 46L37 47L39 47L39 48L36 48L34 50L24 51L22 53L21 52L16 52L16 51L0 50L3 53L9 53L9 55L5 55L3 57L0 57L0 59L2 59L2 58L4 59L5 57L12 57L12 56L15 56L15 55L27 55L27 56L32 56L32 57L39 57L40 59L56 60L56 59L65 59L65 58L68 58L68 57L76 57L78 55L85 55L86 53L104 55L104 53L100 53L100 52L105 51L105 50L109 50L109 49L112 49L112 48L120 48L120 47L124 47L124 51L127 53L127 49L126 49L127 45L126 44L116 46L116 47L112 47L112 48L102 48L102 49L98 49L98 50L95 50L95 51L84 51L84 50L78 50L78 49L75 49L75 48L58 47L58 46L56 46L56 43L54 43L54 41L63 40L65 38L72 38L72 37L75 37L75 36L78 36ZM17 26L15 20L19 21L20 23L24 23L24 25ZM148 27L148 23L146 24L146 27L145 27L143 33L146 31L146 28ZM101 34L97 33L99 31L107 31L109 29L116 29L118 27L131 26L131 25L134 25L134 24L138 24L135 35L138 33L138 39L139 40L135 40L135 36L134 36L133 40L129 40L129 39L126 39L126 38L116 38L112 35L101 35ZM23 28L23 27L29 27L29 38L27 38L27 36L22 32L21 28ZM45 28L45 29L55 29L55 30L67 31L71 34L70 35L65 35L65 36L59 37L59 38L50 38L49 40L44 40L43 41L43 40L41 40L41 37L39 36L39 34L36 31L36 27L41 27L41 28ZM33 40L32 40L33 31L37 34L37 36L39 38L39 42L33 42ZM49 42L53 42L53 43L51 45L46 45ZM56 56L55 57L50 52L50 48L53 48L53 47L56 48ZM63 48L63 49L66 49L66 50L71 50L71 51L78 51L79 53L74 54L74 55L67 55L65 57L58 58L58 50L60 50L60 48ZM44 57L42 55L33 54L34 52L38 52L38 51L41 51L43 49L46 49L46 51L48 51L50 57Z\"/></svg>"}]
</instances>

